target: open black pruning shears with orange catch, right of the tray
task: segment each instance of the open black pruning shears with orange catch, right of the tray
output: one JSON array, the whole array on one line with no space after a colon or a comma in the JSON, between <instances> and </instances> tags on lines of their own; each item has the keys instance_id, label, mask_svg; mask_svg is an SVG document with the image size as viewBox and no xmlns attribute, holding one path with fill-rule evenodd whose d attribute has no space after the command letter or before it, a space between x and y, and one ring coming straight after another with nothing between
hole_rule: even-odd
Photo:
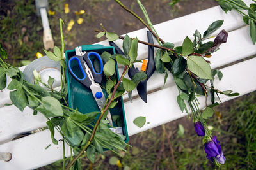
<instances>
[{"instance_id":1,"label":"open black pruning shears with orange catch, right of the tray","mask_svg":"<svg viewBox=\"0 0 256 170\"><path fill-rule=\"evenodd\" d=\"M148 43L152 43L152 44L154 43L152 33L150 31L147 31L147 38L148 38ZM120 53L120 54L124 55L124 52L122 52L122 50L115 43L113 43L112 41L109 41L109 45L115 47L116 53ZM152 74L156 70L153 46L148 46L148 62L147 62L147 60L143 60L143 65L145 63L147 64L147 66L145 67L145 69L143 69L143 71L145 71L145 73L147 74L147 79L140 81L140 83L137 86L137 91L138 91L138 94L141 97L141 99L145 103L147 103L147 80L152 76ZM142 66L142 68L143 68L143 66ZM130 78L132 78L138 72L139 72L139 69L132 65L132 67L128 71L128 75Z\"/></svg>"}]
</instances>

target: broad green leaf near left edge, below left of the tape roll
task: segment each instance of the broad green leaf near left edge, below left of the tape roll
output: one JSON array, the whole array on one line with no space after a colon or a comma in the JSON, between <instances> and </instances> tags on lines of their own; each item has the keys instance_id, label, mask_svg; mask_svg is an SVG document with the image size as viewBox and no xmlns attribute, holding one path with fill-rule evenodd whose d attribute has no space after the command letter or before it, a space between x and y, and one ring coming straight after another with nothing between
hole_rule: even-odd
<instances>
[{"instance_id":1,"label":"broad green leaf near left edge, below left of the tape roll","mask_svg":"<svg viewBox=\"0 0 256 170\"><path fill-rule=\"evenodd\" d=\"M21 86L19 86L17 90L10 92L10 99L20 111L23 111L28 105L28 99Z\"/></svg>"}]
</instances>

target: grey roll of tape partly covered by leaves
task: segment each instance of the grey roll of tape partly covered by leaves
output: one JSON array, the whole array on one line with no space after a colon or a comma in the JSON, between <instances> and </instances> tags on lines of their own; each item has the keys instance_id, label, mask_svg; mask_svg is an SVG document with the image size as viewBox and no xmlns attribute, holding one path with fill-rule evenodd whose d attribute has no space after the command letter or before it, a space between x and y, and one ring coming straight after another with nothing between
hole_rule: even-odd
<instances>
[{"instance_id":1,"label":"grey roll of tape partly covered by leaves","mask_svg":"<svg viewBox=\"0 0 256 170\"><path fill-rule=\"evenodd\" d=\"M40 57L39 59L33 60L33 62L28 64L23 71L24 80L28 81L29 83L34 83L34 70L40 74L42 82L47 84L48 78L51 76L54 78L52 87L55 89L61 86L60 62L51 60L46 55Z\"/></svg>"}]
</instances>

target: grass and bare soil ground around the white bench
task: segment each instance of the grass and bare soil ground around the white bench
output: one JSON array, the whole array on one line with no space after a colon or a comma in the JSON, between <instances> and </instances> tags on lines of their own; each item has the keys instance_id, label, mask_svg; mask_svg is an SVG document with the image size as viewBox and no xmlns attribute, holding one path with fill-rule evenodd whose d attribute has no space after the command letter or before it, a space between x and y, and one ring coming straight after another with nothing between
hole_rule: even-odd
<instances>
[{"instance_id":1,"label":"grass and bare soil ground around the white bench","mask_svg":"<svg viewBox=\"0 0 256 170\"><path fill-rule=\"evenodd\" d=\"M170 8L168 0L142 2L152 17L153 24L216 5L213 0L180 0L174 8ZM70 6L68 14L63 12L64 3ZM0 0L0 4L0 43L3 43L4 48L8 50L9 62L15 66L22 66L22 62L36 59L36 52L43 53L42 24L40 17L36 16L35 1ZM140 11L135 2L125 1L125 4L136 12ZM76 22L77 18L84 18L83 24L74 24L71 31L65 29L67 50L77 45L103 40L95 38L93 32L94 29L99 29L100 22L109 31L118 34L143 27L109 0L49 0L49 10L55 11L55 15L49 16L49 22L57 46L60 46L58 18L63 18L65 27L70 20ZM83 15L75 15L74 11L79 10L86 12ZM256 167L253 161L256 159L255 96L254 92L221 104L216 108L214 117L209 120L209 125L213 127L212 132L218 136L227 157L227 162L221 169L255 169ZM195 135L193 123L188 117L131 136L129 143L133 147L128 148L127 153L122 153L124 158L117 158L120 160L119 167L113 165L115 155L106 152L105 156L97 157L96 164L90 164L88 159L83 158L83 169L121 169L121 166L126 170L152 169L152 167L173 169L173 162L177 169L214 168L205 158L202 138ZM61 162L56 162L41 169L60 169L61 166Z\"/></svg>"}]
</instances>

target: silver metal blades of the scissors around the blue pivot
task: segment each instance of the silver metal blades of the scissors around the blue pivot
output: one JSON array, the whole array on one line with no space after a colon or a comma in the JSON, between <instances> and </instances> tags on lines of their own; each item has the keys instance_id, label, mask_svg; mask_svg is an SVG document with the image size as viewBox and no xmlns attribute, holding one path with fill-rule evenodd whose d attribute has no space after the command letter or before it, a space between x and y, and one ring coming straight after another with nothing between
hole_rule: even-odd
<instances>
[{"instance_id":1,"label":"silver metal blades of the scissors around the blue pivot","mask_svg":"<svg viewBox=\"0 0 256 170\"><path fill-rule=\"evenodd\" d=\"M93 97L94 97L95 101L97 102L100 110L102 110L102 108L104 107L104 104L106 103L106 99L104 97L104 94L103 94L103 91L102 91L100 85L98 83L92 83L92 85L90 86L90 89L92 90ZM101 94L102 94L102 97L100 99L98 99L95 96L95 94L97 92L101 92ZM110 114L109 110L108 110L106 118L108 119L109 125L113 126L113 121L112 121L111 114Z\"/></svg>"}]
</instances>

